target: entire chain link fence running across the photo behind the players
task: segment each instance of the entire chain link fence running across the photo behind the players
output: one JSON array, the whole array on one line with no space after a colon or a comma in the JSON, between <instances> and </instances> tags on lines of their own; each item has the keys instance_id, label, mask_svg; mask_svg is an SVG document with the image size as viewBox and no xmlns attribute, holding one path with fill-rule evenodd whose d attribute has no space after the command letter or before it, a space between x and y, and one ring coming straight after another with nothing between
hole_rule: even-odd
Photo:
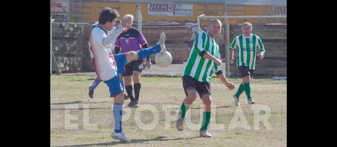
<instances>
[{"instance_id":1,"label":"entire chain link fence running across the photo behind the players","mask_svg":"<svg viewBox=\"0 0 337 147\"><path fill-rule=\"evenodd\" d=\"M91 26L92 24L89 23L52 23L52 51L53 57L55 57L52 62L53 74L57 74L58 70L60 73L95 72L91 64L88 45ZM137 27L134 26L134 28ZM224 28L223 25L215 40L220 48L223 63L226 57L225 50L228 50L225 48ZM207 27L203 26L202 30L207 31ZM182 24L142 25L142 33L149 47L156 45L161 32L166 35L166 51L172 55L172 64L181 64L183 68L189 57L195 36L198 34L197 28ZM252 33L261 38L266 49L263 60L256 58L254 77L286 77L286 24L253 25ZM229 44L241 34L241 25L229 25ZM155 64L155 55L150 57L151 63ZM237 59L237 50L234 52L234 59ZM144 70L147 70L146 62L143 63ZM221 66L225 70L224 64ZM230 64L229 69L230 77L240 77L236 64Z\"/></svg>"}]
</instances>

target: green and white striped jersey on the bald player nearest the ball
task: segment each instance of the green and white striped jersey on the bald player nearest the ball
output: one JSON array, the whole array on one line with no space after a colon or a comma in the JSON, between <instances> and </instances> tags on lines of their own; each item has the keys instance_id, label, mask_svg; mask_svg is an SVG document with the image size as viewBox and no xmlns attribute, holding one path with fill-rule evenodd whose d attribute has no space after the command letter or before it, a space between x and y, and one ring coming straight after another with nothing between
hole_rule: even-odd
<instances>
[{"instance_id":1,"label":"green and white striped jersey on the bald player nearest the ball","mask_svg":"<svg viewBox=\"0 0 337 147\"><path fill-rule=\"evenodd\" d=\"M202 31L195 38L182 76L191 76L201 82L210 82L213 71L222 70L221 66L217 66L214 61L200 56L204 50L220 59L219 46L207 32Z\"/></svg>"}]
</instances>

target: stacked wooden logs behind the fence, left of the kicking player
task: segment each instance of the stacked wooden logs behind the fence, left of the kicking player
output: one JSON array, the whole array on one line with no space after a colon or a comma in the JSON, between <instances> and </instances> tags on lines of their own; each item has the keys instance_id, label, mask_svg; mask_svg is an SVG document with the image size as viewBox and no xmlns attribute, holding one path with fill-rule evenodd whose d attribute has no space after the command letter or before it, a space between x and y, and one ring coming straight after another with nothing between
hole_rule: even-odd
<instances>
[{"instance_id":1,"label":"stacked wooden logs behind the fence, left of the kicking player","mask_svg":"<svg viewBox=\"0 0 337 147\"><path fill-rule=\"evenodd\" d=\"M83 71L83 59L87 59L88 38L92 24L52 23L52 50L62 73ZM89 58L90 60L90 58ZM86 67L90 67L90 64ZM91 65L92 66L92 65ZM54 66L53 66L54 67ZM91 67L93 69L93 67ZM56 71L55 68L52 71Z\"/></svg>"}]
</instances>

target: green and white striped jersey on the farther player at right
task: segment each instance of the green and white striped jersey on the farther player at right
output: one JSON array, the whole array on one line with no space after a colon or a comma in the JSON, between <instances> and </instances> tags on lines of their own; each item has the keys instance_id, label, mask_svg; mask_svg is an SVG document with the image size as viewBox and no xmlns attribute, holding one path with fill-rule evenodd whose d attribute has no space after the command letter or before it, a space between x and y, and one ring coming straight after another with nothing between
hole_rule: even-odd
<instances>
[{"instance_id":1,"label":"green and white striped jersey on the farther player at right","mask_svg":"<svg viewBox=\"0 0 337 147\"><path fill-rule=\"evenodd\" d=\"M265 51L261 39L254 34L251 34L249 37L245 37L243 34L237 36L233 40L229 50L234 51L236 48L238 48L237 66L248 66L249 69L255 69L256 49L259 50L257 54Z\"/></svg>"}]
</instances>

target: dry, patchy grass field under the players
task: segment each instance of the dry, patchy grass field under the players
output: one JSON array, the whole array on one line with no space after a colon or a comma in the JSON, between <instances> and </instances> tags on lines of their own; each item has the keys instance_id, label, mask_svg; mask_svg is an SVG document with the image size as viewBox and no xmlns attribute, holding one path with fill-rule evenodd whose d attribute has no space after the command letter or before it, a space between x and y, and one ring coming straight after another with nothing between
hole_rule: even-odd
<instances>
[{"instance_id":1,"label":"dry, patchy grass field under the players","mask_svg":"<svg viewBox=\"0 0 337 147\"><path fill-rule=\"evenodd\" d=\"M251 82L252 97L256 102L253 105L263 104L271 109L268 122L272 130L268 130L263 122L259 129L254 130L254 111L252 105L247 103L246 94L240 96L241 106L234 104L233 94L241 83L241 79L228 79L236 85L234 90L228 90L218 78L212 78L212 118L221 126L210 129L212 138L199 137L203 111L202 100L197 98L188 110L184 131L180 132L175 127L175 121L165 120L167 113L163 107L173 105L168 111L174 115L179 111L185 98L181 78L142 77L139 108L123 108L127 112L123 117L123 131L132 141L126 144L110 137L114 128L112 104L109 89L101 82L97 86L94 98L88 96L88 87L96 77L89 76L50 76L50 145L51 146L286 146L287 142L287 81L273 81L267 79L253 79ZM133 83L132 83L133 84ZM125 100L127 105L130 100ZM78 106L71 110L70 107ZM154 106L159 113L143 110ZM139 111L137 111L139 109ZM236 111L242 110L249 128L235 128L228 130ZM128 113L129 112L129 113ZM131 112L131 113L130 113ZM65 119L71 116L78 120L71 120L72 125L78 124L78 130L66 130ZM140 116L140 121L150 125L157 119L159 123L153 125L152 130L143 130L135 121ZM260 112L264 115L266 112ZM165 115L166 114L166 115ZM125 119L128 117L129 119ZM240 118L241 122L243 119ZM239 120L239 121L240 121ZM236 120L234 120L236 121ZM165 128L165 122L170 125ZM67 123L68 124L68 123ZM96 124L94 130L88 130L87 124ZM144 126L146 126L144 125ZM192 126L189 128L189 126ZM215 126L215 125L214 125Z\"/></svg>"}]
</instances>

